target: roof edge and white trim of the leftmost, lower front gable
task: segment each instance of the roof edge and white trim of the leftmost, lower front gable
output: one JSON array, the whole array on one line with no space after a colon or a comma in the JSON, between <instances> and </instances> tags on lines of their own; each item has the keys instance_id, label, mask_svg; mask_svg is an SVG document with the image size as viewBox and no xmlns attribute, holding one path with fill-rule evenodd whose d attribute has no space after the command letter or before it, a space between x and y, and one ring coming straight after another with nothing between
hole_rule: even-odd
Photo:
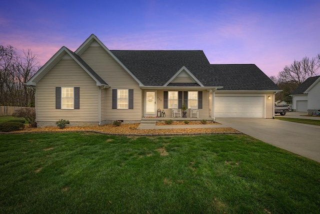
<instances>
[{"instance_id":1,"label":"roof edge and white trim of the leftmost, lower front gable","mask_svg":"<svg viewBox=\"0 0 320 214\"><path fill-rule=\"evenodd\" d=\"M44 75L49 72L56 63L66 56L73 59L96 82L97 86L108 87L107 83L99 77L99 75L97 75L90 66L88 66L78 55L64 46L26 82L26 85L35 86L36 83L41 80L41 78L44 77Z\"/></svg>"}]
</instances>

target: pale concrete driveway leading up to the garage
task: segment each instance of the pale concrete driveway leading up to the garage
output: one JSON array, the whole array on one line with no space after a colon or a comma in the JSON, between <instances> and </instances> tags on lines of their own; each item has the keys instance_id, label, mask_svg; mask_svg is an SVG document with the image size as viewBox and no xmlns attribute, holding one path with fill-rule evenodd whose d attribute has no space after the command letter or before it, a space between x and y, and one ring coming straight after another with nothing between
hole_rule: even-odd
<instances>
[{"instance_id":1,"label":"pale concrete driveway leading up to the garage","mask_svg":"<svg viewBox=\"0 0 320 214\"><path fill-rule=\"evenodd\" d=\"M217 118L216 122L320 162L320 126L276 119Z\"/></svg>"}]
</instances>

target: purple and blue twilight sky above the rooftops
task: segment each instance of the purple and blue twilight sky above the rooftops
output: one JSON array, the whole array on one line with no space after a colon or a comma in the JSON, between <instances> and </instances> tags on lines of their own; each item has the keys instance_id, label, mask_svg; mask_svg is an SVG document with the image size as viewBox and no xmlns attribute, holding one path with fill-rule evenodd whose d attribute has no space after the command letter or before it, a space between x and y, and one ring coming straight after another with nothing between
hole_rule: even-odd
<instances>
[{"instance_id":1,"label":"purple and blue twilight sky above the rooftops","mask_svg":"<svg viewBox=\"0 0 320 214\"><path fill-rule=\"evenodd\" d=\"M319 0L3 1L0 45L44 65L91 34L109 50L203 50L211 64L255 64L267 76L320 54Z\"/></svg>"}]
</instances>

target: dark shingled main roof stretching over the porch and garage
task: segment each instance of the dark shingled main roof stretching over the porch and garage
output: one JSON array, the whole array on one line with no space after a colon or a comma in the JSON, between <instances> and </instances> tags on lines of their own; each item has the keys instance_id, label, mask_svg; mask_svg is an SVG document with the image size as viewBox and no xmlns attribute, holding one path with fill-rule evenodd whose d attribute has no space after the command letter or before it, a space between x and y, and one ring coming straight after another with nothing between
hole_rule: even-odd
<instances>
[{"instance_id":1,"label":"dark shingled main roof stretching over the porch and garage","mask_svg":"<svg viewBox=\"0 0 320 214\"><path fill-rule=\"evenodd\" d=\"M210 65L203 51L119 51L111 50L144 86L163 86L185 66L207 87L220 90L279 90L254 64ZM168 86L198 86L170 83Z\"/></svg>"}]
</instances>

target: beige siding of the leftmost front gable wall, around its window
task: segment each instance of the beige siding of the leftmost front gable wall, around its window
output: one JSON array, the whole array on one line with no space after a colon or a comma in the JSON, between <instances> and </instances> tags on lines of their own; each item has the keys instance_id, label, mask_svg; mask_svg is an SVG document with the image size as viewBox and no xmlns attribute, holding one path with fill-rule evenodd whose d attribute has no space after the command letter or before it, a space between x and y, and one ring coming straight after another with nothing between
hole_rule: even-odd
<instances>
[{"instance_id":1,"label":"beige siding of the leftmost front gable wall, around its window","mask_svg":"<svg viewBox=\"0 0 320 214\"><path fill-rule=\"evenodd\" d=\"M80 87L80 109L55 109L55 87ZM59 119L72 122L98 121L98 87L73 60L61 59L36 84L38 126L51 126Z\"/></svg>"}]
</instances>

